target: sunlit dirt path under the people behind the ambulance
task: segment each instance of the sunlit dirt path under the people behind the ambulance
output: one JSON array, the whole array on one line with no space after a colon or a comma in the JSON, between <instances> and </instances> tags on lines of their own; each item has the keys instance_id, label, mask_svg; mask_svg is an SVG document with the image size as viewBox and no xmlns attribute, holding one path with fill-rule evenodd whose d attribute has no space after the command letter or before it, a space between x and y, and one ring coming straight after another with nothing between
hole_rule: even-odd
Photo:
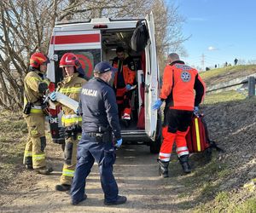
<instances>
[{"instance_id":1,"label":"sunlit dirt path under the people behind the ambulance","mask_svg":"<svg viewBox=\"0 0 256 213\"><path fill-rule=\"evenodd\" d=\"M25 170L17 174L15 182L2 193L1 212L184 212L195 202L190 202L193 196L179 198L186 192L181 182L188 176L181 176L177 160L171 164L171 177L161 179L157 155L150 154L146 146L125 145L117 152L114 176L119 193L127 196L128 202L114 207L104 206L95 164L87 181L88 199L73 206L67 193L55 191L61 175L60 147L51 144L48 153L55 153L54 158L49 158L55 167L54 173L41 176Z\"/></svg>"}]
</instances>

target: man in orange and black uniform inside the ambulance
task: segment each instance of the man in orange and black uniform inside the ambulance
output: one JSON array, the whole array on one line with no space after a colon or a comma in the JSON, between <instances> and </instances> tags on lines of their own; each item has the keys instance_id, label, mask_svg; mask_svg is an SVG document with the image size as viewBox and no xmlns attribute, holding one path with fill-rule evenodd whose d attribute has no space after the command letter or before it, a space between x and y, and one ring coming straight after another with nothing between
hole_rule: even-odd
<instances>
[{"instance_id":1,"label":"man in orange and black uniform inside the ambulance","mask_svg":"<svg viewBox=\"0 0 256 213\"><path fill-rule=\"evenodd\" d=\"M113 59L113 67L118 68L115 73L113 88L116 93L116 100L119 107L119 118L128 125L131 120L131 86L135 83L135 65L130 56L125 57L125 49L116 49L117 57Z\"/></svg>"}]
</instances>

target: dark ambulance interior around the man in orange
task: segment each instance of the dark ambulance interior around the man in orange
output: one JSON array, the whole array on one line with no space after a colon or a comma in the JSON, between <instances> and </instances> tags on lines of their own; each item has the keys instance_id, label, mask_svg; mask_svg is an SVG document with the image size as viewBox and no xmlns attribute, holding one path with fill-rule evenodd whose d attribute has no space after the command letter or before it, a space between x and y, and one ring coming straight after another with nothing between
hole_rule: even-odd
<instances>
[{"instance_id":1,"label":"dark ambulance interior around the man in orange","mask_svg":"<svg viewBox=\"0 0 256 213\"><path fill-rule=\"evenodd\" d=\"M102 60L113 62L116 57L116 48L121 46L125 49L125 56L130 55L134 60L137 87L132 91L131 97L131 120L120 120L122 131L144 130L144 72L142 67L142 54L131 49L131 37L134 29L103 30L102 31Z\"/></svg>"}]
</instances>

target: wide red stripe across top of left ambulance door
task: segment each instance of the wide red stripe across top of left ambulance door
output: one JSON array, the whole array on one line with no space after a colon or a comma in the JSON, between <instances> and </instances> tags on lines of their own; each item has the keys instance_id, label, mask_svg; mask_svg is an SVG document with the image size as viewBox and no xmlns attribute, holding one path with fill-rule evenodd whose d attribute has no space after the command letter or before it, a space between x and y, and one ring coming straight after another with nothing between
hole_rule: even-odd
<instances>
[{"instance_id":1,"label":"wide red stripe across top of left ambulance door","mask_svg":"<svg viewBox=\"0 0 256 213\"><path fill-rule=\"evenodd\" d=\"M100 34L53 36L50 39L50 44L99 43L99 42L100 42Z\"/></svg>"}]
</instances>

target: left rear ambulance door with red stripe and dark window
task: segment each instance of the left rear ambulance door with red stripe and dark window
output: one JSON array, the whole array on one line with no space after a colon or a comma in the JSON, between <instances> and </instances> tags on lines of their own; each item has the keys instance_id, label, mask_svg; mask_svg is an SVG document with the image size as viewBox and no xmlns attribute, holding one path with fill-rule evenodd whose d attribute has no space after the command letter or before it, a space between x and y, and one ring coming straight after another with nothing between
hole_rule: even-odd
<instances>
[{"instance_id":1,"label":"left rear ambulance door with red stripe and dark window","mask_svg":"<svg viewBox=\"0 0 256 213\"><path fill-rule=\"evenodd\" d=\"M47 76L58 83L63 78L59 62L62 55L71 52L79 57L85 78L93 77L94 66L101 61L101 31L68 31L68 26L56 27L49 43L49 66Z\"/></svg>"}]
</instances>

